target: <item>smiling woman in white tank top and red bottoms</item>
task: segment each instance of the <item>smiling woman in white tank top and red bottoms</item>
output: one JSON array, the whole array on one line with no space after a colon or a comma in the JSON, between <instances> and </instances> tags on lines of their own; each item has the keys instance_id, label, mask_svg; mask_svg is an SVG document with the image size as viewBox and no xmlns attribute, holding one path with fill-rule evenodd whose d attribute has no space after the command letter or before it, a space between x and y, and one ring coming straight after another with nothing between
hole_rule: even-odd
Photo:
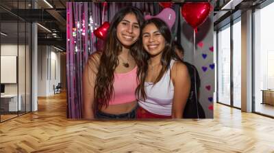
<instances>
[{"instance_id":1,"label":"smiling woman in white tank top and red bottoms","mask_svg":"<svg viewBox=\"0 0 274 153\"><path fill-rule=\"evenodd\" d=\"M140 84L136 89L137 118L182 118L190 91L188 69L177 57L171 31L160 18L145 21L142 29Z\"/></svg>"}]
</instances>

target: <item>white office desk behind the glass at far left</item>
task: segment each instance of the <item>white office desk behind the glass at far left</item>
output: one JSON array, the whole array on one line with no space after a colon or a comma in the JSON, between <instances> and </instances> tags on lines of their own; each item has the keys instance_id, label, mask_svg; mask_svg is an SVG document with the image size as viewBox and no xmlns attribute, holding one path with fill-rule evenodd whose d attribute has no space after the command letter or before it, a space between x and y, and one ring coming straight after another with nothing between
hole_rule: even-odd
<instances>
[{"instance_id":1,"label":"white office desk behind the glass at far left","mask_svg":"<svg viewBox=\"0 0 274 153\"><path fill-rule=\"evenodd\" d=\"M5 111L21 111L21 94L18 94L18 105L17 105L17 94L4 94L1 95L1 107ZM17 110L18 108L18 110Z\"/></svg>"}]
</instances>

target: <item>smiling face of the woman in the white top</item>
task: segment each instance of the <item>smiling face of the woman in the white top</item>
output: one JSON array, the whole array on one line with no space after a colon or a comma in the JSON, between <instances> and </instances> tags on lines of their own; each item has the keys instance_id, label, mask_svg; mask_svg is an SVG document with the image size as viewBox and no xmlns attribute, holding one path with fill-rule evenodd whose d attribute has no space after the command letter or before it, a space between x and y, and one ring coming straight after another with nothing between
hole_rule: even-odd
<instances>
[{"instance_id":1,"label":"smiling face of the woman in the white top","mask_svg":"<svg viewBox=\"0 0 274 153\"><path fill-rule=\"evenodd\" d=\"M162 55L166 40L159 29L150 23L142 29L142 45L151 56Z\"/></svg>"}]
</instances>

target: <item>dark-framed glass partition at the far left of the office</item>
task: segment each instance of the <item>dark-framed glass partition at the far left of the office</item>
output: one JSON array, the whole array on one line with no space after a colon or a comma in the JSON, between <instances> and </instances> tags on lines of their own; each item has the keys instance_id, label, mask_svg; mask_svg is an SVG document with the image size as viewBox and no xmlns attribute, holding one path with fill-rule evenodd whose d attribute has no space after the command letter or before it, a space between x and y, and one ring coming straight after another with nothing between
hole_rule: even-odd
<instances>
[{"instance_id":1,"label":"dark-framed glass partition at the far left of the office","mask_svg":"<svg viewBox=\"0 0 274 153\"><path fill-rule=\"evenodd\" d=\"M31 24L14 13L31 1L1 1L0 122L31 111ZM23 11L24 12L24 11ZM17 13L16 13L17 14Z\"/></svg>"}]
</instances>

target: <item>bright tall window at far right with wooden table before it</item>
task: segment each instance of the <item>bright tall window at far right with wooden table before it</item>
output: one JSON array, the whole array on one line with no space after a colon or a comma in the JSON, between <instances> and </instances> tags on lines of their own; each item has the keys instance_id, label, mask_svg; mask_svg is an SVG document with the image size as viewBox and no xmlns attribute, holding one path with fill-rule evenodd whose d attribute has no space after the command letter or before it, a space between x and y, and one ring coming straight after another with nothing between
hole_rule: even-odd
<instances>
[{"instance_id":1,"label":"bright tall window at far right with wooden table before it","mask_svg":"<svg viewBox=\"0 0 274 153\"><path fill-rule=\"evenodd\" d=\"M266 96L265 92L274 95L274 3L254 12L254 96L255 111L265 115L274 116L274 107L265 102L264 98L272 98L274 96ZM274 104L274 102L273 102Z\"/></svg>"}]
</instances>

